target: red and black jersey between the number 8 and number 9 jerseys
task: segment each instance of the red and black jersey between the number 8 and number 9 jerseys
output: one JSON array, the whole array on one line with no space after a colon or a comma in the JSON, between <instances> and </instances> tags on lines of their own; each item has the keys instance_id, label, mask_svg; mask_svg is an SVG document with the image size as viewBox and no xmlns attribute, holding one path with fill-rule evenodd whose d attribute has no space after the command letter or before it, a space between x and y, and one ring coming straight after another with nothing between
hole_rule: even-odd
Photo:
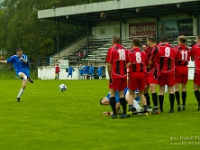
<instances>
[{"instance_id":1,"label":"red and black jersey between the number 8 and number 9 jerseys","mask_svg":"<svg viewBox=\"0 0 200 150\"><path fill-rule=\"evenodd\" d=\"M155 76L159 76L159 48L157 45L153 47L148 47L146 49L147 59L152 61L150 68L147 69L148 73L153 73Z\"/></svg>"}]
</instances>

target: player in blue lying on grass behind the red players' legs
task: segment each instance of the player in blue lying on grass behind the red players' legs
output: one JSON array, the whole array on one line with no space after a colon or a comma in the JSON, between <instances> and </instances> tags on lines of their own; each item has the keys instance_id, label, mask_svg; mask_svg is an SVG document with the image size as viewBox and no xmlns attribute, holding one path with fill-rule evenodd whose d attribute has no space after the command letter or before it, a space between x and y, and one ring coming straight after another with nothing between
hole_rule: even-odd
<instances>
[{"instance_id":1,"label":"player in blue lying on grass behind the red players' legs","mask_svg":"<svg viewBox=\"0 0 200 150\"><path fill-rule=\"evenodd\" d=\"M125 96L126 102L128 103L128 100L129 100L129 90L128 90L128 88L126 88L124 90L124 96ZM115 94L115 99L116 99L117 114L121 114L120 100L119 100L120 98L119 98L118 92L116 92L116 94ZM143 109L139 105L140 97L138 96L138 90L135 91L134 99L132 101L134 101L133 110L132 110L134 112L134 114L143 113ZM110 92L108 93L107 96L100 99L100 104L103 105L103 106L110 105ZM113 114L113 112L103 112L103 115L112 115L112 114Z\"/></svg>"}]
</instances>

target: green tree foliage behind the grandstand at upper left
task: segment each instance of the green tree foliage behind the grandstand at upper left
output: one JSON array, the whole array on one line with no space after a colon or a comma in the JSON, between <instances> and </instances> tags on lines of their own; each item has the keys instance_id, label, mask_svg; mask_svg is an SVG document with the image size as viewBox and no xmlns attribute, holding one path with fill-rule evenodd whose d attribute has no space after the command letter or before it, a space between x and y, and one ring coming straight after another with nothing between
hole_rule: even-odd
<instances>
[{"instance_id":1,"label":"green tree foliage behind the grandstand at upper left","mask_svg":"<svg viewBox=\"0 0 200 150\"><path fill-rule=\"evenodd\" d=\"M56 22L37 18L37 11L107 0L4 0L0 4L0 50L7 56L20 47L29 59L56 51ZM85 34L83 27L60 24L60 48Z\"/></svg>"}]
</instances>

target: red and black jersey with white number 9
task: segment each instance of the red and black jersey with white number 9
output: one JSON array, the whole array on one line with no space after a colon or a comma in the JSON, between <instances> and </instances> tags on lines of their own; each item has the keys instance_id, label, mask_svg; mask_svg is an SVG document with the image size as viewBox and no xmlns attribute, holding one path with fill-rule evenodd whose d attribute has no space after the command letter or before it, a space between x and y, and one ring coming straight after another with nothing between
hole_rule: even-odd
<instances>
[{"instance_id":1,"label":"red and black jersey with white number 9","mask_svg":"<svg viewBox=\"0 0 200 150\"><path fill-rule=\"evenodd\" d=\"M160 44L160 71L162 73L174 74L176 50L170 44Z\"/></svg>"}]
</instances>

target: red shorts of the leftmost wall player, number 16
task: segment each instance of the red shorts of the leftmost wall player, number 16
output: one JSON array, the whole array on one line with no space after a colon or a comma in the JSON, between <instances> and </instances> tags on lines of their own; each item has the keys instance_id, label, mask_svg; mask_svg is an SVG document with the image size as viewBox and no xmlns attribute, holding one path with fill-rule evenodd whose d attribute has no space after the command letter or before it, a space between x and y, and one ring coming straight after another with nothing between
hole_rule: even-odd
<instances>
[{"instance_id":1,"label":"red shorts of the leftmost wall player, number 16","mask_svg":"<svg viewBox=\"0 0 200 150\"><path fill-rule=\"evenodd\" d=\"M127 78L109 79L109 88L116 91L123 91L127 87Z\"/></svg>"}]
</instances>

